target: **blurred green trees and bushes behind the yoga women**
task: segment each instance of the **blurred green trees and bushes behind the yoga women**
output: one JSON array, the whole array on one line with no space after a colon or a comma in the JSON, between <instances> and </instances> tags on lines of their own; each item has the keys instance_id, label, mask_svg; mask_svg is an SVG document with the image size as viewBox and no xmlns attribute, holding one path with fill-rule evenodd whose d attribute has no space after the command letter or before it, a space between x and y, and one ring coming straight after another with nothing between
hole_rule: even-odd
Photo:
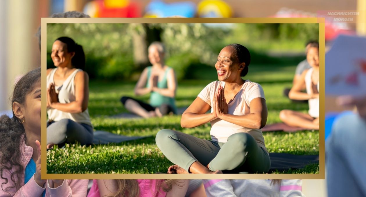
<instances>
[{"instance_id":1,"label":"blurred green trees and bushes behind the yoga women","mask_svg":"<svg viewBox=\"0 0 366 197\"><path fill-rule=\"evenodd\" d=\"M146 27L160 35L146 35ZM68 36L83 46L86 72L91 79L137 80L142 68L134 62L132 34L146 39L161 38L167 49L166 64L176 71L178 80L201 78L202 69L214 66L220 50L231 43L246 46L253 64L291 64L301 61L305 43L318 40L318 24L47 24L47 67L53 41ZM270 53L297 53L291 58Z\"/></svg>"}]
</instances>

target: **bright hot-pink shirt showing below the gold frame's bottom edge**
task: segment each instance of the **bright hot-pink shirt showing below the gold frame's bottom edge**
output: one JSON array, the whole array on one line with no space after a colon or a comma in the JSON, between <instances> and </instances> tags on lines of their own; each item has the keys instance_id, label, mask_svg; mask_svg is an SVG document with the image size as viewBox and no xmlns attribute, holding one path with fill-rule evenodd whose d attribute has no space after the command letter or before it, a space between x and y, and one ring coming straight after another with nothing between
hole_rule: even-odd
<instances>
[{"instance_id":1,"label":"bright hot-pink shirt showing below the gold frame's bottom edge","mask_svg":"<svg viewBox=\"0 0 366 197\"><path fill-rule=\"evenodd\" d=\"M167 195L166 192L164 192L162 189L157 190L157 181L161 182L163 180L138 179L137 182L140 188L139 197L165 197ZM96 179L93 179L93 186L91 186L87 197L100 197Z\"/></svg>"}]
</instances>

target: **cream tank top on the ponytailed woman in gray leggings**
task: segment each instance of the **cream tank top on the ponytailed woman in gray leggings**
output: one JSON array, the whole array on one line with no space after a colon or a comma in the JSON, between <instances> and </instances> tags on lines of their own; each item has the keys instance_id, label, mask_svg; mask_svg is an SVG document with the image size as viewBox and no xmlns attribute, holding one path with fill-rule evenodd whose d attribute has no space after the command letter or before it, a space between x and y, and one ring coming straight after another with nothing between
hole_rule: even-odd
<instances>
[{"instance_id":1,"label":"cream tank top on the ponytailed woman in gray leggings","mask_svg":"<svg viewBox=\"0 0 366 197\"><path fill-rule=\"evenodd\" d=\"M51 71L50 74L47 76L47 88L49 87L49 84L53 83L55 84L55 81L53 80L53 77L55 75L55 72L58 68L55 68ZM76 73L79 71L83 71L81 69L76 69L74 72L70 74L70 76L67 77L67 79L63 82L60 86L55 86L56 93L59 94L59 102L60 103L71 103L72 101L75 101L75 76ZM69 113L69 112L63 112L58 109L48 109L47 115L49 120L53 121L59 121L62 119L71 119L74 120L77 123L84 123L87 125L91 125L90 117L88 109L81 113Z\"/></svg>"}]
</instances>

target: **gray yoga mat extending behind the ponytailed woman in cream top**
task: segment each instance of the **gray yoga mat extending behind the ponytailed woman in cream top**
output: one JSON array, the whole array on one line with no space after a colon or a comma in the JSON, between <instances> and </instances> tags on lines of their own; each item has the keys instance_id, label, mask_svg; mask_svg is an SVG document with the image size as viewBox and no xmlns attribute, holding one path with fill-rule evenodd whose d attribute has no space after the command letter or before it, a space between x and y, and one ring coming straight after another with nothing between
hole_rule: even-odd
<instances>
[{"instance_id":1,"label":"gray yoga mat extending behind the ponytailed woman in cream top","mask_svg":"<svg viewBox=\"0 0 366 197\"><path fill-rule=\"evenodd\" d=\"M112 134L107 131L95 131L94 133L93 144L108 144L108 143L121 143L130 140L142 139L149 136L124 136Z\"/></svg>"}]
</instances>

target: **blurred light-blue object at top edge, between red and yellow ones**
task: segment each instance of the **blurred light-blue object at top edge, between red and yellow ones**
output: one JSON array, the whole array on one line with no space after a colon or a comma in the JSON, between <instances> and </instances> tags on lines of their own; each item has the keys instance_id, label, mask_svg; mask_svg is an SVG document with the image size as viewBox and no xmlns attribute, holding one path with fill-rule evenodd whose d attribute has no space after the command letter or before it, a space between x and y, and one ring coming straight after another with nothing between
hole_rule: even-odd
<instances>
[{"instance_id":1,"label":"blurred light-blue object at top edge, between red and yellow ones","mask_svg":"<svg viewBox=\"0 0 366 197\"><path fill-rule=\"evenodd\" d=\"M196 5L191 1L164 3L160 0L154 0L146 5L144 17L163 18L182 16L192 18L195 15L195 7Z\"/></svg>"}]
</instances>

